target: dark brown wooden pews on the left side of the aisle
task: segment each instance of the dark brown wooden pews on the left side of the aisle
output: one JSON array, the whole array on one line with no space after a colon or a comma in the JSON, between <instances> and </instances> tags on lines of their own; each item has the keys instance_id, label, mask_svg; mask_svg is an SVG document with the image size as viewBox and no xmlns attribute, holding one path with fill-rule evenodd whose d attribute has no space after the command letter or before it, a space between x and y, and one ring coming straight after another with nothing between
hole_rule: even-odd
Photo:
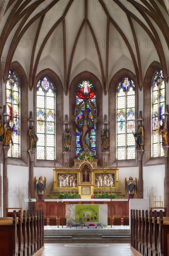
<instances>
[{"instance_id":1,"label":"dark brown wooden pews on the left side of the aisle","mask_svg":"<svg viewBox=\"0 0 169 256\"><path fill-rule=\"evenodd\" d=\"M0 218L0 256L33 256L44 247L44 212L13 211L13 218Z\"/></svg>"}]
</instances>

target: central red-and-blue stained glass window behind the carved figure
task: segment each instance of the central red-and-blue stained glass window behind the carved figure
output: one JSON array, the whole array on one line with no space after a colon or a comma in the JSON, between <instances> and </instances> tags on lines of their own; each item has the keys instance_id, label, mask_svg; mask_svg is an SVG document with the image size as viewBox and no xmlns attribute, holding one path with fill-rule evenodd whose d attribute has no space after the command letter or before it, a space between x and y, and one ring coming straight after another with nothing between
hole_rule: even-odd
<instances>
[{"instance_id":1,"label":"central red-and-blue stained glass window behind the carved figure","mask_svg":"<svg viewBox=\"0 0 169 256\"><path fill-rule=\"evenodd\" d=\"M77 121L83 118L85 109L88 111L88 118L94 122L97 117L96 91L94 85L88 80L82 81L76 88L75 117ZM96 155L96 124L88 132L88 144L90 151ZM76 155L79 155L82 150L81 131L76 128Z\"/></svg>"}]
</instances>

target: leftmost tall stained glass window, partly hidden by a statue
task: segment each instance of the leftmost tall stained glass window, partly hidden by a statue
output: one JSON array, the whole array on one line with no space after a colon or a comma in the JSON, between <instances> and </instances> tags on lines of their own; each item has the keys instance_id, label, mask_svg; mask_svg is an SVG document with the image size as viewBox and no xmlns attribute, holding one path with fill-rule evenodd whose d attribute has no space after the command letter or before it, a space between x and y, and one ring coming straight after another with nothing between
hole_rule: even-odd
<instances>
[{"instance_id":1,"label":"leftmost tall stained glass window, partly hidden by a statue","mask_svg":"<svg viewBox=\"0 0 169 256\"><path fill-rule=\"evenodd\" d=\"M15 125L10 142L8 157L20 158L20 86L19 78L13 70L9 71L6 81L6 112L9 116L6 120L10 121L10 126Z\"/></svg>"}]
</instances>

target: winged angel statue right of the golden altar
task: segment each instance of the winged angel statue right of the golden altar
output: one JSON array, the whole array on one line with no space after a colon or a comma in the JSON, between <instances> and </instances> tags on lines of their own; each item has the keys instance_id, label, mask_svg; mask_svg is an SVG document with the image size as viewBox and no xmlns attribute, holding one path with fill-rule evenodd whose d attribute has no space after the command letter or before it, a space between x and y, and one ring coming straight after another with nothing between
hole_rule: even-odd
<instances>
[{"instance_id":1,"label":"winged angel statue right of the golden altar","mask_svg":"<svg viewBox=\"0 0 169 256\"><path fill-rule=\"evenodd\" d=\"M129 200L134 198L134 194L138 195L138 179L135 177L135 181L130 176L129 180L127 181L127 178L125 177L125 195L127 195L127 192L129 194Z\"/></svg>"}]
</instances>

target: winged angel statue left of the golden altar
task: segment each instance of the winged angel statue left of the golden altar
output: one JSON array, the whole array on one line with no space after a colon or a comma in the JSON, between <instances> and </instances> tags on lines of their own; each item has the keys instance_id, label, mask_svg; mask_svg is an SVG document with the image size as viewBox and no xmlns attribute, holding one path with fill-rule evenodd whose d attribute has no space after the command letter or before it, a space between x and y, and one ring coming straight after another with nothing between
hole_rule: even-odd
<instances>
[{"instance_id":1,"label":"winged angel statue left of the golden altar","mask_svg":"<svg viewBox=\"0 0 169 256\"><path fill-rule=\"evenodd\" d=\"M38 201L44 201L44 195L46 195L46 177L44 177L44 180L42 176L38 180L36 176L34 177L33 194L35 194L35 190L37 191Z\"/></svg>"}]
</instances>

